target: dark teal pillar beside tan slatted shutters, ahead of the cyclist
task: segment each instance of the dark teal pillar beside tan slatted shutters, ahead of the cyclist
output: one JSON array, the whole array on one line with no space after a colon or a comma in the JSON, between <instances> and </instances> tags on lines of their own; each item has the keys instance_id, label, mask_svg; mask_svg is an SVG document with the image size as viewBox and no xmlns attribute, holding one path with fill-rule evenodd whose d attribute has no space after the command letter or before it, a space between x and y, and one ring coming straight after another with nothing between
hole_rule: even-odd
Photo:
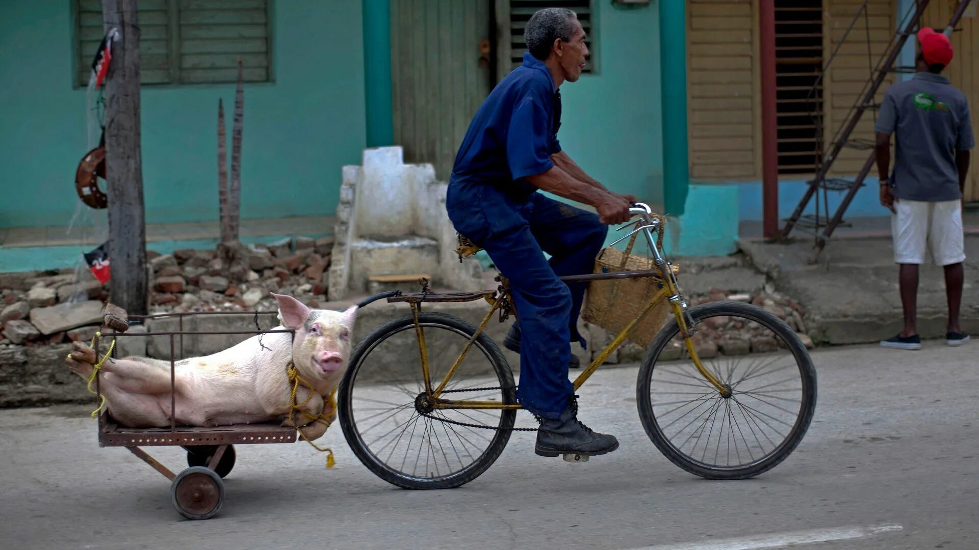
<instances>
[{"instance_id":1,"label":"dark teal pillar beside tan slatted shutters, ahead of the cyclist","mask_svg":"<svg viewBox=\"0 0 979 550\"><path fill-rule=\"evenodd\" d=\"M663 102L663 202L683 213L690 185L686 125L685 2L660 2L660 86Z\"/></svg>"}]
</instances>

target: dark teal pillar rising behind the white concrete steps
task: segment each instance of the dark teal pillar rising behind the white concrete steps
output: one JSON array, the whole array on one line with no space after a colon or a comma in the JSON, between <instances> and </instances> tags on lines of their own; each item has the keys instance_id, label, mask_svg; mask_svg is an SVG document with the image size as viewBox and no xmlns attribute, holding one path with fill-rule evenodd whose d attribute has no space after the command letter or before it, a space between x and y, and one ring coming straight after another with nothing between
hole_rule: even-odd
<instances>
[{"instance_id":1,"label":"dark teal pillar rising behind the white concrete steps","mask_svg":"<svg viewBox=\"0 0 979 550\"><path fill-rule=\"evenodd\" d=\"M393 145L391 0L362 0L367 147Z\"/></svg>"}]
</instances>

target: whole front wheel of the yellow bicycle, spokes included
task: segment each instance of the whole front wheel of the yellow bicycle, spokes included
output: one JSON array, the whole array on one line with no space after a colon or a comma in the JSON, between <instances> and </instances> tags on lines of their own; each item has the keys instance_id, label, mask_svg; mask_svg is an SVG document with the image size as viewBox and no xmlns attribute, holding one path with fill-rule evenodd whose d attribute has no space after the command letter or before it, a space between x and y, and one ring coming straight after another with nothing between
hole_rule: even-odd
<instances>
[{"instance_id":1,"label":"whole front wheel of the yellow bicycle, spokes included","mask_svg":"<svg viewBox=\"0 0 979 550\"><path fill-rule=\"evenodd\" d=\"M639 369L636 401L646 434L676 466L702 478L768 472L799 445L816 411L816 369L805 344L748 303L715 301L688 313L701 363L730 395L700 374L673 319Z\"/></svg>"}]
</instances>

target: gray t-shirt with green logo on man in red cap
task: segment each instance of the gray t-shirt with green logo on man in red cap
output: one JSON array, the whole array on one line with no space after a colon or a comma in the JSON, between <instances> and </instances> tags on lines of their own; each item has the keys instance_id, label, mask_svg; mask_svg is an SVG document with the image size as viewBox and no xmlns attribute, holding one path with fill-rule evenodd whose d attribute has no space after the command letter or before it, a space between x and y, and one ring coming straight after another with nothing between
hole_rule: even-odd
<instances>
[{"instance_id":1,"label":"gray t-shirt with green logo on man in red cap","mask_svg":"<svg viewBox=\"0 0 979 550\"><path fill-rule=\"evenodd\" d=\"M955 201L956 151L975 146L965 95L941 74L917 72L884 94L874 131L895 134L894 196L909 201Z\"/></svg>"}]
</instances>

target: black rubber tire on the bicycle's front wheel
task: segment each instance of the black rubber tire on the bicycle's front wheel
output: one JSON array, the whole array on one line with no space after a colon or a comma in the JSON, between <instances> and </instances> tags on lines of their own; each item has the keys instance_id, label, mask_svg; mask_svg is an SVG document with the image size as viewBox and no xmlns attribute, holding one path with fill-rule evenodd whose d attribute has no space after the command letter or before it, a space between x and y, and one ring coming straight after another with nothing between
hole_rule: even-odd
<instances>
[{"instance_id":1,"label":"black rubber tire on the bicycle's front wheel","mask_svg":"<svg viewBox=\"0 0 979 550\"><path fill-rule=\"evenodd\" d=\"M802 343L791 327L765 309L750 303L726 300L713 301L692 307L687 312L694 323L709 317L735 315L755 321L775 333L791 351L800 371L802 382L801 413L797 417L790 434L780 445L764 459L742 468L711 468L680 452L660 429L653 413L650 397L650 384L656 361L666 345L679 333L676 319L671 319L646 348L646 353L639 367L636 382L636 405L642 427L660 452L676 466L690 474L709 480L747 480L764 474L788 458L809 430L813 415L816 412L816 368L813 365L812 357L810 357L806 345Z\"/></svg>"}]
</instances>

